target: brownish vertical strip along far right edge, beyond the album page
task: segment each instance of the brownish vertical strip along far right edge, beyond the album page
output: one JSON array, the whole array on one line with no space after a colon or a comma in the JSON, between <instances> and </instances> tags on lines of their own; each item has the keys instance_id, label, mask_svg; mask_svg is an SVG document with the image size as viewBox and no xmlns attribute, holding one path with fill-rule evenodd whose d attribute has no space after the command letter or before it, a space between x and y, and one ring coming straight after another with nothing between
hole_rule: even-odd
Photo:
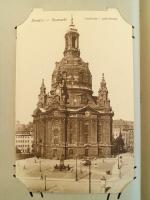
<instances>
[{"instance_id":1,"label":"brownish vertical strip along far right edge, beyond the album page","mask_svg":"<svg viewBox=\"0 0 150 200\"><path fill-rule=\"evenodd\" d=\"M141 0L142 200L150 199L150 1Z\"/></svg>"}]
</instances>

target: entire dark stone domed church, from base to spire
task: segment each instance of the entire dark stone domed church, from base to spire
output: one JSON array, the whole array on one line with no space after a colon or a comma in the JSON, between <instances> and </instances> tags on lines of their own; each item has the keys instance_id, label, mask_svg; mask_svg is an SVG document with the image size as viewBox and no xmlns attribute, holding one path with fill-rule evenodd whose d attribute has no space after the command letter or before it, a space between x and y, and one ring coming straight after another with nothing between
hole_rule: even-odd
<instances>
[{"instance_id":1,"label":"entire dark stone domed church, from base to spire","mask_svg":"<svg viewBox=\"0 0 150 200\"><path fill-rule=\"evenodd\" d=\"M113 115L104 74L98 95L93 95L92 75L80 57L79 33L72 19L50 92L42 80L33 112L34 154L50 159L110 157Z\"/></svg>"}]
</instances>

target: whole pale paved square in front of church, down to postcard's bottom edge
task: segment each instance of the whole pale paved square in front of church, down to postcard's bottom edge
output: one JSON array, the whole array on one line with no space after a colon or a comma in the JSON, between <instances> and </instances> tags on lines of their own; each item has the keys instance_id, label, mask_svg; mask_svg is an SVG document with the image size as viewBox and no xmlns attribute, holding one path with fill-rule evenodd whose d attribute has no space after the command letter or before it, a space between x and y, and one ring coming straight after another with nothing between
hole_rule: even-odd
<instances>
[{"instance_id":1,"label":"whole pale paved square in front of church, down to postcard's bottom edge","mask_svg":"<svg viewBox=\"0 0 150 200\"><path fill-rule=\"evenodd\" d=\"M66 160L65 165L70 165L70 171L55 171L54 165L58 160L25 159L16 162L17 177L29 188L30 191L46 191L61 193L88 193L89 168L77 162L78 181L75 181L75 160ZM119 192L134 176L133 157L130 154L122 155L122 167L118 170L118 159L96 159L91 166L91 193ZM106 171L110 170L111 175ZM46 175L46 180L45 180ZM101 180L102 177L106 178Z\"/></svg>"}]
</instances>

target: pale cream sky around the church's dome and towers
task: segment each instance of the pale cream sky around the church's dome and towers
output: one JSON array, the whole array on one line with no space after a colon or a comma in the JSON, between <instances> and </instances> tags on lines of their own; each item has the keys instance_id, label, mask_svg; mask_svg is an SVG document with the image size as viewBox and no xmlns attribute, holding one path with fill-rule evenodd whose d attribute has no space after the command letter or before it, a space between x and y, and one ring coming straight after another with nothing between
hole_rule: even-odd
<instances>
[{"instance_id":1,"label":"pale cream sky around the church's dome and towers","mask_svg":"<svg viewBox=\"0 0 150 200\"><path fill-rule=\"evenodd\" d=\"M44 11L35 9L17 28L16 120L32 121L42 78L47 92L55 62L63 57L71 16L80 34L81 58L89 63L94 95L102 73L114 119L134 120L132 27L115 9Z\"/></svg>"}]
</instances>

